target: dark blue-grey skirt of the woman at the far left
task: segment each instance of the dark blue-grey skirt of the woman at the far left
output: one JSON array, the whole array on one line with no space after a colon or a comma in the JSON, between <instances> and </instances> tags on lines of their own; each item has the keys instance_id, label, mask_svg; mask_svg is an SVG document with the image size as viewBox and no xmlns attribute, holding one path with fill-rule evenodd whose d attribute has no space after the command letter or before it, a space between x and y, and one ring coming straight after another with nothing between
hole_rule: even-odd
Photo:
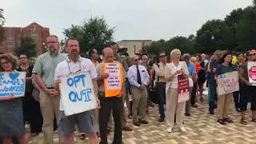
<instances>
[{"instance_id":1,"label":"dark blue-grey skirt of the woman at the far left","mask_svg":"<svg viewBox=\"0 0 256 144\"><path fill-rule=\"evenodd\" d=\"M21 98L0 101L0 137L18 137L26 134Z\"/></svg>"}]
</instances>

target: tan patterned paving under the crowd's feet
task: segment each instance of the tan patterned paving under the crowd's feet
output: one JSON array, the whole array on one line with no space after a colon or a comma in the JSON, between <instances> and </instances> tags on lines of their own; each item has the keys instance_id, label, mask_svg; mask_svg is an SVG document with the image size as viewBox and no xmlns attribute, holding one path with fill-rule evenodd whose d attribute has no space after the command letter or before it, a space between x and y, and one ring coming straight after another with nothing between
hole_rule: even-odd
<instances>
[{"instance_id":1,"label":"tan patterned paving under the crowd's feet","mask_svg":"<svg viewBox=\"0 0 256 144\"><path fill-rule=\"evenodd\" d=\"M205 98L206 99L206 98ZM240 124L240 116L231 106L230 114L234 123L222 126L218 124L215 115L208 114L206 102L198 102L198 108L191 109L191 116L185 118L186 133L182 133L178 128L174 128L171 134L166 133L164 122L158 122L157 106L150 109L147 115L149 125L140 127L133 126L129 120L130 126L134 129L131 132L123 133L125 144L172 144L172 143L202 143L202 144L233 144L233 143L256 143L256 122L249 122L249 125ZM248 120L250 118L248 117ZM54 134L54 142L58 143L57 134ZM38 137L30 138L30 143L43 144L42 134ZM111 143L113 132L110 134ZM81 141L76 138L78 143L88 143L87 140Z\"/></svg>"}]
</instances>

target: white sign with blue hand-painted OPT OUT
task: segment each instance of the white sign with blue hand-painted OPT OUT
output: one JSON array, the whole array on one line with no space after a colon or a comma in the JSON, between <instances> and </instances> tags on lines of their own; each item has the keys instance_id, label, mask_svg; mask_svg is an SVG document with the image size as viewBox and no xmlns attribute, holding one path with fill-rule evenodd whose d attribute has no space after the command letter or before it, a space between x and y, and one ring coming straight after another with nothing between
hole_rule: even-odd
<instances>
[{"instance_id":1,"label":"white sign with blue hand-painted OPT OUT","mask_svg":"<svg viewBox=\"0 0 256 144\"><path fill-rule=\"evenodd\" d=\"M69 74L62 78L59 86L66 116L93 110L98 106L89 73Z\"/></svg>"}]
</instances>

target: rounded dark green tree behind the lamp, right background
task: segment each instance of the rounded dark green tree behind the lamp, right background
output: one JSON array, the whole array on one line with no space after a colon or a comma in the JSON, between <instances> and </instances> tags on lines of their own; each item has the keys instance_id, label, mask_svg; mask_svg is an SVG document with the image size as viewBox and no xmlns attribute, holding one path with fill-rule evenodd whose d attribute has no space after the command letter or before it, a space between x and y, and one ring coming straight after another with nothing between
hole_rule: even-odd
<instances>
[{"instance_id":1,"label":"rounded dark green tree behind the lamp, right background","mask_svg":"<svg viewBox=\"0 0 256 144\"><path fill-rule=\"evenodd\" d=\"M212 53L214 50L233 50L232 34L226 22L220 19L207 21L197 32L195 50Z\"/></svg>"}]
</instances>

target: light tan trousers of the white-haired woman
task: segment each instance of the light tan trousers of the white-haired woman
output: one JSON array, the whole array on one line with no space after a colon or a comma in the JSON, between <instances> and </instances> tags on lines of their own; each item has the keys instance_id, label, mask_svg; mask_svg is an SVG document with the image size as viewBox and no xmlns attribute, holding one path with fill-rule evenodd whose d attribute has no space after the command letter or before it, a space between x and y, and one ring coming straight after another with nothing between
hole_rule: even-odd
<instances>
[{"instance_id":1,"label":"light tan trousers of the white-haired woman","mask_svg":"<svg viewBox=\"0 0 256 144\"><path fill-rule=\"evenodd\" d=\"M178 89L170 88L166 94L166 124L174 127L174 115L179 127L183 126L186 102L178 102Z\"/></svg>"}]
</instances>

